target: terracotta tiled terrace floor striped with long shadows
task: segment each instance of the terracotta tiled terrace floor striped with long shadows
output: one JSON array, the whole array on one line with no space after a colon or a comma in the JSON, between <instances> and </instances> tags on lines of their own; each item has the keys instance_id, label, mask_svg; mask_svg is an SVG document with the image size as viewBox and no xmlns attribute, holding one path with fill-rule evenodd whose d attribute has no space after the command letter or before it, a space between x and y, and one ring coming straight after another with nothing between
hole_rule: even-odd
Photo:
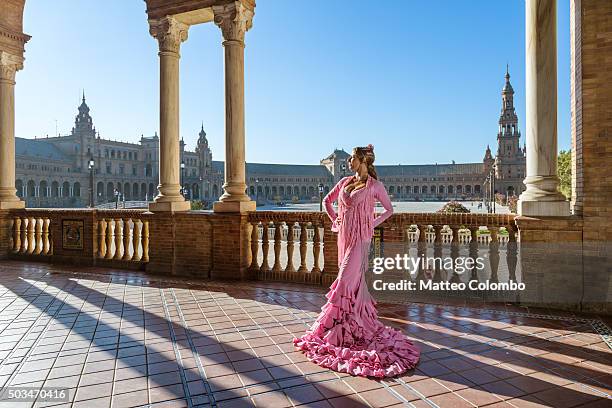
<instances>
[{"instance_id":1,"label":"terracotta tiled terrace floor striped with long shadows","mask_svg":"<svg viewBox=\"0 0 612 408\"><path fill-rule=\"evenodd\" d=\"M592 317L380 304L422 361L373 381L294 351L323 290L12 261L0 273L0 384L68 389L57 406L612 406L607 326Z\"/></svg>"}]
</instances>

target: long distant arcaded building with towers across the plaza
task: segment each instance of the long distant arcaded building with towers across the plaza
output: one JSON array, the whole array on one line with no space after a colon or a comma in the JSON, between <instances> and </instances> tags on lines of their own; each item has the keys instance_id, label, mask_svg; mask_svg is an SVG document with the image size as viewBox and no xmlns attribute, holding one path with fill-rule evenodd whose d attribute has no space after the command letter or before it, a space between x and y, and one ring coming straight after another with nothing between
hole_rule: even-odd
<instances>
[{"instance_id":1,"label":"long distant arcaded building with towers across the plaza","mask_svg":"<svg viewBox=\"0 0 612 408\"><path fill-rule=\"evenodd\" d=\"M524 189L525 148L520 147L514 90L506 71L495 157L487 146L481 162L377 165L393 200L478 200L491 188L518 196ZM181 184L188 199L214 201L222 194L223 161L213 160L204 125L194 151L180 142ZM350 174L349 154L336 149L319 164L246 163L247 194L261 201L319 199ZM93 163L93 166L90 164ZM102 139L85 95L70 134L16 138L16 188L28 207L84 207L117 199L152 200L159 183L159 137L139 143ZM493 181L492 181L493 180Z\"/></svg>"}]
</instances>

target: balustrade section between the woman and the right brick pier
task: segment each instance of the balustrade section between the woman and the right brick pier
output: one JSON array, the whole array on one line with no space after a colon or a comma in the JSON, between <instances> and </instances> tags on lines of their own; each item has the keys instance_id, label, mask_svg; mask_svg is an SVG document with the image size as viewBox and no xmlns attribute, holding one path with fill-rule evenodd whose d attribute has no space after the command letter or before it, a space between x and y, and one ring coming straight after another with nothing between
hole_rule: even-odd
<instances>
[{"instance_id":1,"label":"balustrade section between the woman and the right brick pier","mask_svg":"<svg viewBox=\"0 0 612 408\"><path fill-rule=\"evenodd\" d=\"M468 288L470 281L475 281L476 287L477 283L521 282L521 271L517 270L520 254L514 217L512 214L394 214L382 225L383 249L377 255L394 257L407 254L421 262L416 269L408 268L409 271L392 268L380 275L369 273L368 281L372 283L382 279L418 283L432 280L464 283ZM472 261L465 264L466 259ZM481 289L471 293L479 291L484 293ZM406 295L405 292L383 292L379 293L380 297ZM465 293L461 296L467 296ZM489 293L487 296L492 295ZM517 296L517 292L500 291L494 296L512 297Z\"/></svg>"}]
</instances>

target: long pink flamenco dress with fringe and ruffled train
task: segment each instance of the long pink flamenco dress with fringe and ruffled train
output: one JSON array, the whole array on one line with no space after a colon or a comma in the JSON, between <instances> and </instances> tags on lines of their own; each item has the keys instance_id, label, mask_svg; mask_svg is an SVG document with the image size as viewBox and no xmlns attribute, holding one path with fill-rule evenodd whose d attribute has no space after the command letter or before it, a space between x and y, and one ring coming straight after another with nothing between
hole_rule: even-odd
<instances>
[{"instance_id":1,"label":"long pink flamenco dress with fringe and ruffled train","mask_svg":"<svg viewBox=\"0 0 612 408\"><path fill-rule=\"evenodd\" d=\"M293 344L306 357L332 370L363 377L392 377L412 369L420 349L401 331L378 320L376 301L365 282L373 230L393 214L383 184L368 177L365 187L347 193L352 176L334 186L324 199L338 233L338 278L310 330ZM332 203L338 199L338 214ZM384 207L374 215L376 200Z\"/></svg>"}]
</instances>

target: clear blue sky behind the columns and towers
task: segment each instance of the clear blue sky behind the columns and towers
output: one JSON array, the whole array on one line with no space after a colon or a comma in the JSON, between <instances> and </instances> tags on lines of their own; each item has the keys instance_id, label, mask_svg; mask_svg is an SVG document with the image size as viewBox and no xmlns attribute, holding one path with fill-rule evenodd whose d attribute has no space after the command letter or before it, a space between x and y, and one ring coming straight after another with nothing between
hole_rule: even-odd
<instances>
[{"instance_id":1,"label":"clear blue sky behind the columns and towers","mask_svg":"<svg viewBox=\"0 0 612 408\"><path fill-rule=\"evenodd\" d=\"M493 152L506 63L525 128L523 0L259 0L246 35L249 162L316 164L372 143L378 164L480 161ZM558 2L559 148L570 146L569 0ZM103 138L159 126L156 41L141 0L28 2L16 135L70 131L85 89ZM181 49L181 135L202 121L224 157L223 48L213 24ZM521 144L524 143L524 137Z\"/></svg>"}]
</instances>

